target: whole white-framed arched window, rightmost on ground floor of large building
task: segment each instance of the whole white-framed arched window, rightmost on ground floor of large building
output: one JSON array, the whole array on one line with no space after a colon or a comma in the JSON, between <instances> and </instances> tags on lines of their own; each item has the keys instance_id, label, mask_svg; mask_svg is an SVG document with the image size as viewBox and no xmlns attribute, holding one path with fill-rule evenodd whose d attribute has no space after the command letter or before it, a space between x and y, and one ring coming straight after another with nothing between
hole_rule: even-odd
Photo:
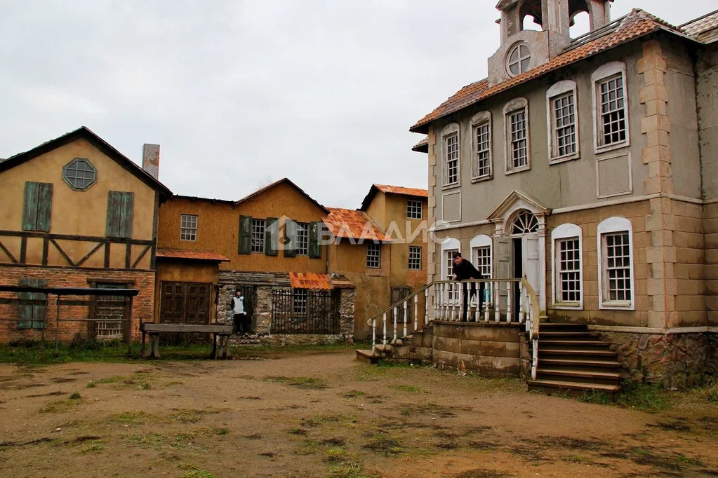
<instances>
[{"instance_id":1,"label":"whole white-framed arched window, rightmost on ground floor of large building","mask_svg":"<svg viewBox=\"0 0 718 478\"><path fill-rule=\"evenodd\" d=\"M597 231L600 308L634 310L633 226L628 219L612 217Z\"/></svg>"}]
</instances>

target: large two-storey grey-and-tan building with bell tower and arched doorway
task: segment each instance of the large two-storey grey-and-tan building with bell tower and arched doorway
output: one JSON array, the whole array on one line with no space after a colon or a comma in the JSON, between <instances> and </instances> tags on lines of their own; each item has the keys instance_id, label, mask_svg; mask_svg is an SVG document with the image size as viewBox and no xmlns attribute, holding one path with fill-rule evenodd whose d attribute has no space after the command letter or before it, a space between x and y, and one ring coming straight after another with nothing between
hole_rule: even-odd
<instances>
[{"instance_id":1,"label":"large two-storey grey-and-tan building with bell tower and arched doorway","mask_svg":"<svg viewBox=\"0 0 718 478\"><path fill-rule=\"evenodd\" d=\"M501 0L488 78L411 127L442 224L429 280L470 254L605 334L634 378L693 383L717 362L718 13L674 27L610 4Z\"/></svg>"}]
</instances>

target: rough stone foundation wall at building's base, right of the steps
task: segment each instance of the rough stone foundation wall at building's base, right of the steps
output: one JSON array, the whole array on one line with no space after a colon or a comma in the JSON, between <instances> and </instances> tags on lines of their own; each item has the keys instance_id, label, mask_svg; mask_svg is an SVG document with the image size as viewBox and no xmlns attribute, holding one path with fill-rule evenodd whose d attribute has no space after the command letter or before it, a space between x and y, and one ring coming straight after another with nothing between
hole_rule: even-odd
<instances>
[{"instance_id":1,"label":"rough stone foundation wall at building's base, right of the steps","mask_svg":"<svg viewBox=\"0 0 718 478\"><path fill-rule=\"evenodd\" d=\"M602 333L623 365L623 378L682 390L716 373L716 340L708 333Z\"/></svg>"}]
</instances>

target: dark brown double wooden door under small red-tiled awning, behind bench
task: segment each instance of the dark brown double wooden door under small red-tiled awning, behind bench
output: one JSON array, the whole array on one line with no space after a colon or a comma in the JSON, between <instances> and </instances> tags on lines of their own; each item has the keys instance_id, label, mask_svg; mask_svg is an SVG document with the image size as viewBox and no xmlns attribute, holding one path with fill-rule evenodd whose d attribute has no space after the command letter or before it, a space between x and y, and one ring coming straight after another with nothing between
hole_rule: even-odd
<instances>
[{"instance_id":1,"label":"dark brown double wooden door under small red-tiled awning, behind bench","mask_svg":"<svg viewBox=\"0 0 718 478\"><path fill-rule=\"evenodd\" d=\"M172 324L208 324L210 322L210 292L205 282L162 281L159 321Z\"/></svg>"}]
</instances>

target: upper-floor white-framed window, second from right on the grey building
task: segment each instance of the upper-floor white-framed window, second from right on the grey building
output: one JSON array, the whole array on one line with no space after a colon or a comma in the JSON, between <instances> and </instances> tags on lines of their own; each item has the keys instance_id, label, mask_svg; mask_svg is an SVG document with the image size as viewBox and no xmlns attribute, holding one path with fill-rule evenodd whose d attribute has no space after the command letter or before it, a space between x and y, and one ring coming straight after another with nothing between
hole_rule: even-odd
<instances>
[{"instance_id":1,"label":"upper-floor white-framed window, second from right on the grey building","mask_svg":"<svg viewBox=\"0 0 718 478\"><path fill-rule=\"evenodd\" d=\"M563 80L546 92L551 163L579 157L576 82Z\"/></svg>"}]
</instances>

